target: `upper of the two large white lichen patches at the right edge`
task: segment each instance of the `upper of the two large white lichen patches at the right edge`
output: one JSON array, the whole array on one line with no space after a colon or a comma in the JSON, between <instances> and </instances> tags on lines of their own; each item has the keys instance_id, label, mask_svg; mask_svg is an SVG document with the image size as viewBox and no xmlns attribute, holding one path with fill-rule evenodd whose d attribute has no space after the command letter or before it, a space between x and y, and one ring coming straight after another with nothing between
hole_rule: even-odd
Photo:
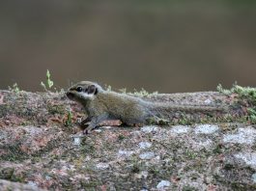
<instances>
[{"instance_id":1,"label":"upper of the two large white lichen patches at the right edge","mask_svg":"<svg viewBox=\"0 0 256 191\"><path fill-rule=\"evenodd\" d=\"M236 134L224 135L225 143L239 143L252 145L256 139L256 129L254 128L239 128Z\"/></svg>"}]
</instances>

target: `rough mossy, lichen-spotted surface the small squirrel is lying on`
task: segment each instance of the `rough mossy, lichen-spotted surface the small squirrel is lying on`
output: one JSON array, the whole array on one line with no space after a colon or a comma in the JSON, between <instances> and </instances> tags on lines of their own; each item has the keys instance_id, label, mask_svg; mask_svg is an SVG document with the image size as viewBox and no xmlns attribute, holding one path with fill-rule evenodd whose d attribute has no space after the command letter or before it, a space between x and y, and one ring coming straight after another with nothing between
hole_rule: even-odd
<instances>
[{"instance_id":1,"label":"rough mossy, lichen-spotted surface the small squirrel is lying on","mask_svg":"<svg viewBox=\"0 0 256 191\"><path fill-rule=\"evenodd\" d=\"M0 190L256 189L256 127L245 102L214 92L144 98L229 111L82 135L83 111L64 94L0 91Z\"/></svg>"}]
</instances>

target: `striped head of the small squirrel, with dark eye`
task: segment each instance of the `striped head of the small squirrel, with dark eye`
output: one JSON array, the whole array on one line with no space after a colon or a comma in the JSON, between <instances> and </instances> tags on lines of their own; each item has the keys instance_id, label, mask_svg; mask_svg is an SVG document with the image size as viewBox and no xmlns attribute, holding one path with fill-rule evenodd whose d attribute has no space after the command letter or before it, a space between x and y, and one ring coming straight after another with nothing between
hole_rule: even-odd
<instances>
[{"instance_id":1,"label":"striped head of the small squirrel, with dark eye","mask_svg":"<svg viewBox=\"0 0 256 191\"><path fill-rule=\"evenodd\" d=\"M73 85L66 95L71 99L78 102L94 99L97 94L102 92L103 89L99 84L90 81L81 81Z\"/></svg>"}]
</instances>

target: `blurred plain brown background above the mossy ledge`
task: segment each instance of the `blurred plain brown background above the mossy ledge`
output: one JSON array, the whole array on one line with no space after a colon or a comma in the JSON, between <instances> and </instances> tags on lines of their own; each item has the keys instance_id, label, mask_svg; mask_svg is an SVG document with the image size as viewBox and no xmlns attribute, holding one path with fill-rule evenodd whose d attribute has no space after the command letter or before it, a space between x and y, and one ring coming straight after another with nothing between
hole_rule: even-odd
<instances>
[{"instance_id":1,"label":"blurred plain brown background above the mossy ledge","mask_svg":"<svg viewBox=\"0 0 256 191\"><path fill-rule=\"evenodd\" d=\"M256 1L0 1L0 89L256 86Z\"/></svg>"}]
</instances>

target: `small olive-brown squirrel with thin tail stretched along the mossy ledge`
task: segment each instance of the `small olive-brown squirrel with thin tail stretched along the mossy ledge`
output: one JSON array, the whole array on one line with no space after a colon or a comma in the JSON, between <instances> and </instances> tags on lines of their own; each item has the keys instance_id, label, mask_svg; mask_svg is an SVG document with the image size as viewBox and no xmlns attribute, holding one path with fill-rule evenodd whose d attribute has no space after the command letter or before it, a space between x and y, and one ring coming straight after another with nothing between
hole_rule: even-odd
<instances>
[{"instance_id":1,"label":"small olive-brown squirrel with thin tail stretched along the mossy ledge","mask_svg":"<svg viewBox=\"0 0 256 191\"><path fill-rule=\"evenodd\" d=\"M223 108L211 106L179 106L150 102L131 95L105 91L98 83L90 81L81 81L73 85L66 95L85 109L88 117L81 123L86 125L83 131L85 134L107 120L120 120L127 125L137 125L148 123L152 119L160 121L164 115L175 111L209 113L223 110Z\"/></svg>"}]
</instances>

